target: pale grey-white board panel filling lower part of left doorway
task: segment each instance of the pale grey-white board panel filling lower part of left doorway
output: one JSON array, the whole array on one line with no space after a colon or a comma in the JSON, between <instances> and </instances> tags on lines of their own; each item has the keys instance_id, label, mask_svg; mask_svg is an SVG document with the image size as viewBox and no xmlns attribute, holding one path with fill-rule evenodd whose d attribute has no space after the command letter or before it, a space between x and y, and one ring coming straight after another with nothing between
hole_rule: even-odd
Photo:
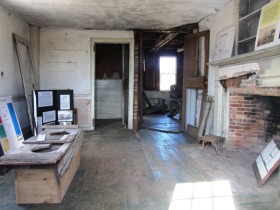
<instances>
[{"instance_id":1,"label":"pale grey-white board panel filling lower part of left doorway","mask_svg":"<svg viewBox=\"0 0 280 210\"><path fill-rule=\"evenodd\" d=\"M122 118L122 80L96 80L96 119Z\"/></svg>"}]
</instances>

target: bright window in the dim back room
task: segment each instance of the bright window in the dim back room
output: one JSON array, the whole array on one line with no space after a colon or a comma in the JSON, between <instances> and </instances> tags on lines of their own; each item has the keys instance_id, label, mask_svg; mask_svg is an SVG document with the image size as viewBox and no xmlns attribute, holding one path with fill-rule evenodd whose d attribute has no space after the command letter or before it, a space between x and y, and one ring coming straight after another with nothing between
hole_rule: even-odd
<instances>
[{"instance_id":1,"label":"bright window in the dim back room","mask_svg":"<svg viewBox=\"0 0 280 210\"><path fill-rule=\"evenodd\" d=\"M170 90L171 85L176 84L176 57L161 56L159 58L159 70L160 70L160 90Z\"/></svg>"}]
</instances>

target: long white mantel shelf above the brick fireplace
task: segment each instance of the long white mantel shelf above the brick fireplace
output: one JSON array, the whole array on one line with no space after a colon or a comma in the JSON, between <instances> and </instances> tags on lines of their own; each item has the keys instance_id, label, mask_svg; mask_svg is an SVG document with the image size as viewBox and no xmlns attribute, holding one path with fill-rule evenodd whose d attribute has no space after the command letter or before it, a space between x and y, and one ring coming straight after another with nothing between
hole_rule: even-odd
<instances>
[{"instance_id":1,"label":"long white mantel shelf above the brick fireplace","mask_svg":"<svg viewBox=\"0 0 280 210\"><path fill-rule=\"evenodd\" d=\"M257 50L242 55L237 55L227 59L209 62L208 65L213 67L233 66L237 64L254 62L257 60L262 60L274 56L280 56L280 45L262 49L262 50Z\"/></svg>"}]
</instances>

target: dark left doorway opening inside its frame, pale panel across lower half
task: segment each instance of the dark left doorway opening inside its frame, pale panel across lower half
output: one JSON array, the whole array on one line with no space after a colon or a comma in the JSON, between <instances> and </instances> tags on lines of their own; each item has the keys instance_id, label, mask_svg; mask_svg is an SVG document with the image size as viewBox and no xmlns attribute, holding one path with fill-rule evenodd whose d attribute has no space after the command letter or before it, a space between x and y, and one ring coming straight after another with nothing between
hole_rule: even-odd
<instances>
[{"instance_id":1,"label":"dark left doorway opening inside its frame, pale panel across lower half","mask_svg":"<svg viewBox=\"0 0 280 210\"><path fill-rule=\"evenodd\" d=\"M126 128L129 45L95 44L95 128Z\"/></svg>"}]
</instances>

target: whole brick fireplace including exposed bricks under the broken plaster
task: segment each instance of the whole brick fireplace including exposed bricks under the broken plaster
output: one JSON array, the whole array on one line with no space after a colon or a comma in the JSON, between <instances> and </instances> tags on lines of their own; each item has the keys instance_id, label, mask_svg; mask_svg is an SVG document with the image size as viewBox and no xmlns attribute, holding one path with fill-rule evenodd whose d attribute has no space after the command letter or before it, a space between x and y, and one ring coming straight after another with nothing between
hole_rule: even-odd
<instances>
[{"instance_id":1,"label":"whole brick fireplace including exposed bricks under the broken plaster","mask_svg":"<svg viewBox=\"0 0 280 210\"><path fill-rule=\"evenodd\" d=\"M254 74L221 83L229 91L230 148L280 140L280 88L259 87Z\"/></svg>"}]
</instances>

